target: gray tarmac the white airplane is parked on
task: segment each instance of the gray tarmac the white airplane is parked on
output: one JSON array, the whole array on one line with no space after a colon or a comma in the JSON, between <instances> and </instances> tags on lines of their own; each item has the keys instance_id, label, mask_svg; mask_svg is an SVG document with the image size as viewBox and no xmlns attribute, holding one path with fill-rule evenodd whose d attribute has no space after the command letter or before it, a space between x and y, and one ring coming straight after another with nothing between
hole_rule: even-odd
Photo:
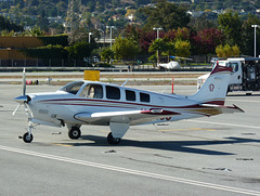
<instances>
[{"instance_id":1,"label":"gray tarmac the white airplane is parked on","mask_svg":"<svg viewBox=\"0 0 260 196\"><path fill-rule=\"evenodd\" d=\"M57 90L28 86L27 92ZM170 86L138 88L171 92ZM195 86L176 86L193 94ZM260 195L260 93L230 93L225 105L245 113L131 127L117 146L108 127L39 126L24 143L27 117L13 97L22 87L0 84L0 195Z\"/></svg>"}]
</instances>

